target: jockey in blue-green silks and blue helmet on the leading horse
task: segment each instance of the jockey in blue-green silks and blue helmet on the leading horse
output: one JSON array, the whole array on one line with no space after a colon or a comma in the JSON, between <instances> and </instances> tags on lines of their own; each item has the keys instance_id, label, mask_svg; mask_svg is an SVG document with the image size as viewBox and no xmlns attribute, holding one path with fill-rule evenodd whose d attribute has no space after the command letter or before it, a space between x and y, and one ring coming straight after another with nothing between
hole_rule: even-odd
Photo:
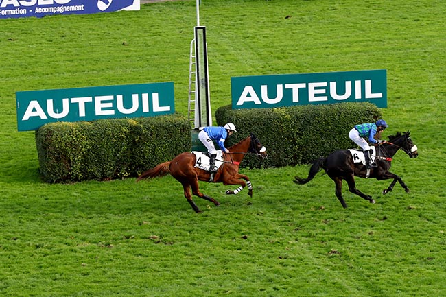
<instances>
[{"instance_id":1,"label":"jockey in blue-green silks and blue helmet on the leading horse","mask_svg":"<svg viewBox=\"0 0 446 297\"><path fill-rule=\"evenodd\" d=\"M368 142L373 144L382 143L381 140L375 139L375 134L379 131L384 131L388 127L386 121L384 119L379 119L376 123L362 123L360 125L356 125L349 132L349 138L359 145L362 150L364 150L364 157L366 158L366 167L367 169L371 169L372 167L377 167L376 163L370 162L370 153L372 152L371 147L368 145ZM363 138L366 137L368 142Z\"/></svg>"}]
</instances>

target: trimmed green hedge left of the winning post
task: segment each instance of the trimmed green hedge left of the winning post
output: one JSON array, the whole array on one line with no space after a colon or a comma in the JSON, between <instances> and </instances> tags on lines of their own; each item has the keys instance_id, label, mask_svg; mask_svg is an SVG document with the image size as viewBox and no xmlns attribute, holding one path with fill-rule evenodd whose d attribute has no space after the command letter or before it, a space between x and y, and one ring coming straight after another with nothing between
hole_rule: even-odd
<instances>
[{"instance_id":1,"label":"trimmed green hedge left of the winning post","mask_svg":"<svg viewBox=\"0 0 446 297\"><path fill-rule=\"evenodd\" d=\"M138 176L191 150L191 125L179 115L49 123L36 131L46 182Z\"/></svg>"}]
</instances>

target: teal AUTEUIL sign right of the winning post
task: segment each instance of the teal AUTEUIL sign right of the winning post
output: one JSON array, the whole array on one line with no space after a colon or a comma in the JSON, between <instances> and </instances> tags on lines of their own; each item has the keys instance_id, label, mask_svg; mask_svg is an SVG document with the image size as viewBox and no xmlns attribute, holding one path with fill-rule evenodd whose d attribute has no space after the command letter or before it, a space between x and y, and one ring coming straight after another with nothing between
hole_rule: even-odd
<instances>
[{"instance_id":1,"label":"teal AUTEUIL sign right of the winning post","mask_svg":"<svg viewBox=\"0 0 446 297\"><path fill-rule=\"evenodd\" d=\"M231 78L232 108L274 108L339 102L387 107L386 69Z\"/></svg>"}]
</instances>

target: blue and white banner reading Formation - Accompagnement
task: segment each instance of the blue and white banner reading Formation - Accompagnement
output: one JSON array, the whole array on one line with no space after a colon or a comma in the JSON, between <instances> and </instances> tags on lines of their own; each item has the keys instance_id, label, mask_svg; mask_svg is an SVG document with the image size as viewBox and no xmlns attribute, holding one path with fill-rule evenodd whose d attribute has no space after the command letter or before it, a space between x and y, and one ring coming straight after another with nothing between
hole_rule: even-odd
<instances>
[{"instance_id":1,"label":"blue and white banner reading Formation - Accompagnement","mask_svg":"<svg viewBox=\"0 0 446 297\"><path fill-rule=\"evenodd\" d=\"M0 19L139 10L140 0L0 0Z\"/></svg>"}]
</instances>

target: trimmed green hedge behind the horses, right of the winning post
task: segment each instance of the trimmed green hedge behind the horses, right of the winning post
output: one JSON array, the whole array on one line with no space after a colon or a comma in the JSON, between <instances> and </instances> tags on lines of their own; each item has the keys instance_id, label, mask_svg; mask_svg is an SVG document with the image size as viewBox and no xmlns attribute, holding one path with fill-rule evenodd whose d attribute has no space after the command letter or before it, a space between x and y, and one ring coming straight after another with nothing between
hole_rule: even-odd
<instances>
[{"instance_id":1,"label":"trimmed green hedge behind the horses, right of the winning post","mask_svg":"<svg viewBox=\"0 0 446 297\"><path fill-rule=\"evenodd\" d=\"M219 126L232 122L237 133L228 147L255 133L266 146L268 159L248 155L244 167L281 167L306 164L338 149L355 147L349 131L357 123L375 121L381 111L371 103L340 103L283 108L232 110L223 106L215 112Z\"/></svg>"}]
</instances>

